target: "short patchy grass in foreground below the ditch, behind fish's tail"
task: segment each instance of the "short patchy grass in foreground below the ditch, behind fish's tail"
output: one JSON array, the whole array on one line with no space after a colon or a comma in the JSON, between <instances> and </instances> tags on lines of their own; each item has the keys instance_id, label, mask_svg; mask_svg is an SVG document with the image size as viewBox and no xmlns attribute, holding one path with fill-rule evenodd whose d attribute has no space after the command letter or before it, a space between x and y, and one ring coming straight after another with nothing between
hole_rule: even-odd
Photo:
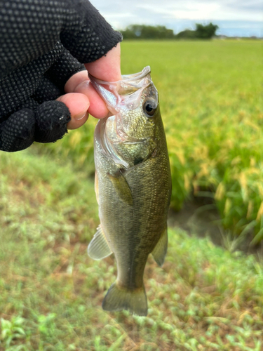
<instances>
[{"instance_id":1,"label":"short patchy grass in foreground below the ditch, behind fish's tail","mask_svg":"<svg viewBox=\"0 0 263 351\"><path fill-rule=\"evenodd\" d=\"M263 347L263 270L254 256L169 230L150 257L147 317L102 310L114 257L91 260L93 178L34 150L0 154L1 351L244 350Z\"/></svg>"}]
</instances>

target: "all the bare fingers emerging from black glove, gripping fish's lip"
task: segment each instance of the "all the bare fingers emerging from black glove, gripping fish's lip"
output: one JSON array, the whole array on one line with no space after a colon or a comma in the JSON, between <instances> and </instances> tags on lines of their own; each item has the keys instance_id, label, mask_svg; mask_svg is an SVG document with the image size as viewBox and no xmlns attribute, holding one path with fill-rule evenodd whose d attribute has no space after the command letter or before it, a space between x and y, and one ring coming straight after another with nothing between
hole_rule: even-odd
<instances>
[{"instance_id":1,"label":"all the bare fingers emerging from black glove, gripping fish's lip","mask_svg":"<svg viewBox=\"0 0 263 351\"><path fill-rule=\"evenodd\" d=\"M117 44L106 56L95 62L85 64L86 69L94 77L104 81L119 81L121 79L121 47ZM74 74L65 84L65 95L60 96L69 108L72 120L67 124L68 129L76 129L88 119L88 114L95 118L104 118L109 114L104 101L97 94L90 80L88 72L81 71Z\"/></svg>"}]
</instances>

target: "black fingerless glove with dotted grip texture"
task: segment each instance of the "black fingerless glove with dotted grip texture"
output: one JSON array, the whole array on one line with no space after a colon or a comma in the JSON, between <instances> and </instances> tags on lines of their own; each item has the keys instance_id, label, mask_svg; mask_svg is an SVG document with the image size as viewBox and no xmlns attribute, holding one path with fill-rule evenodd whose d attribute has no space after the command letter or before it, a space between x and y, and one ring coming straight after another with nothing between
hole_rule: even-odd
<instances>
[{"instance_id":1,"label":"black fingerless glove with dotted grip texture","mask_svg":"<svg viewBox=\"0 0 263 351\"><path fill-rule=\"evenodd\" d=\"M67 80L121 41L88 0L0 2L0 150L67 132Z\"/></svg>"}]
</instances>

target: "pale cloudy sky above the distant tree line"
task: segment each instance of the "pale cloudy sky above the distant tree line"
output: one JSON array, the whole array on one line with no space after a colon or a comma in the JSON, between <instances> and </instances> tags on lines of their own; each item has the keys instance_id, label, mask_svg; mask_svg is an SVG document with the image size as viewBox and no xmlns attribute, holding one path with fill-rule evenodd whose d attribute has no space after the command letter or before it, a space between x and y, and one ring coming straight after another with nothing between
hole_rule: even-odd
<instances>
[{"instance_id":1,"label":"pale cloudy sky above the distant tree line","mask_svg":"<svg viewBox=\"0 0 263 351\"><path fill-rule=\"evenodd\" d=\"M175 34L195 23L218 25L217 34L263 37L262 0L90 0L114 29L165 25Z\"/></svg>"}]
</instances>

